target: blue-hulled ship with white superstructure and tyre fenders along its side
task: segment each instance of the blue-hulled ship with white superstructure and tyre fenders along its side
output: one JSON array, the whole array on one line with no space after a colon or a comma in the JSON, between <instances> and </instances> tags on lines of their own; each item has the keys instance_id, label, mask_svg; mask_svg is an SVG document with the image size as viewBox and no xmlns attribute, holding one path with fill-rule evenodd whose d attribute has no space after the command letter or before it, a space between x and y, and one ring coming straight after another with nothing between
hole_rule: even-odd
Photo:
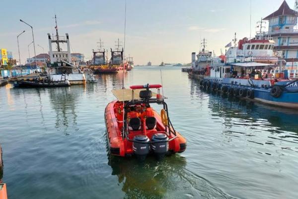
<instances>
[{"instance_id":1,"label":"blue-hulled ship with white superstructure and tyre fenders along its side","mask_svg":"<svg viewBox=\"0 0 298 199\"><path fill-rule=\"evenodd\" d=\"M200 86L230 97L298 108L298 80L291 80L288 70L283 70L286 60L278 60L273 39L257 34L250 40L240 39L238 45L236 36L233 41L226 55L215 58L204 75L198 76Z\"/></svg>"}]
</instances>

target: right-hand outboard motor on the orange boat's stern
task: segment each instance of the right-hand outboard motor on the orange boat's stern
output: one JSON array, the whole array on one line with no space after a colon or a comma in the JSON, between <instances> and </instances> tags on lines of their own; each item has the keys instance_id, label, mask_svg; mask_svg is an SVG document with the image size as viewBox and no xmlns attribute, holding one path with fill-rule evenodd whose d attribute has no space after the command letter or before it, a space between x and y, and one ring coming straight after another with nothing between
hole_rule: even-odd
<instances>
[{"instance_id":1,"label":"right-hand outboard motor on the orange boat's stern","mask_svg":"<svg viewBox=\"0 0 298 199\"><path fill-rule=\"evenodd\" d=\"M167 142L168 139L169 138L167 137L167 135L163 133L155 133L152 136L152 142L158 141L151 144L151 148L158 160L162 159L169 150L169 143Z\"/></svg>"}]
</instances>

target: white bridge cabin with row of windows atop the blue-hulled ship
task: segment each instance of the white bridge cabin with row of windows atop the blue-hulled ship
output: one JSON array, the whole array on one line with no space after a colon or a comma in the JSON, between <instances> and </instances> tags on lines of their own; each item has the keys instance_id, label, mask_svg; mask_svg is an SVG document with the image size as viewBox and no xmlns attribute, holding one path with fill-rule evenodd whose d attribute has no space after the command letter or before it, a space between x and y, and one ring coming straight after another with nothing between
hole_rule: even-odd
<instances>
[{"instance_id":1,"label":"white bridge cabin with row of windows atop the blue-hulled ship","mask_svg":"<svg viewBox=\"0 0 298 199\"><path fill-rule=\"evenodd\" d=\"M275 42L272 39L248 38L240 39L238 46L230 47L226 51L226 63L235 62L263 62L276 63L278 53L273 52Z\"/></svg>"}]
</instances>

